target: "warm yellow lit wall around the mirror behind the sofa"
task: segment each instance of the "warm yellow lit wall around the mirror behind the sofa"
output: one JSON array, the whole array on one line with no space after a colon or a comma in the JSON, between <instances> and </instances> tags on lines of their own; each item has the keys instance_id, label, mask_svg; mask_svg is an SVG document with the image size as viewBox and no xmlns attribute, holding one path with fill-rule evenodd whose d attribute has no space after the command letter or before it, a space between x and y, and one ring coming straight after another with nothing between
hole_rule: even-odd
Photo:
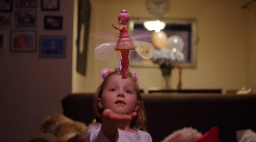
<instances>
[{"instance_id":1,"label":"warm yellow lit wall around the mirror behind the sofa","mask_svg":"<svg viewBox=\"0 0 256 142\"><path fill-rule=\"evenodd\" d=\"M91 0L91 33L116 33L111 24L118 25L117 15L126 9L130 17L156 18L149 14L146 0L104 1ZM241 5L245 0L172 0L170 11L164 19L196 19L197 67L184 69L183 88L221 88L240 89L243 86L255 86L255 4L247 9ZM74 78L72 92L94 92L102 79L103 67L116 68L120 53L115 52L106 60L95 59L94 48L110 40L90 37L88 43L87 74ZM74 60L73 60L74 64ZM147 91L150 87L162 87L163 78L159 68L135 68L140 74L140 88ZM74 72L74 69L73 69ZM76 81L77 80L77 81ZM77 82L77 83L76 83ZM178 84L178 70L172 71L171 87Z\"/></svg>"}]
</instances>

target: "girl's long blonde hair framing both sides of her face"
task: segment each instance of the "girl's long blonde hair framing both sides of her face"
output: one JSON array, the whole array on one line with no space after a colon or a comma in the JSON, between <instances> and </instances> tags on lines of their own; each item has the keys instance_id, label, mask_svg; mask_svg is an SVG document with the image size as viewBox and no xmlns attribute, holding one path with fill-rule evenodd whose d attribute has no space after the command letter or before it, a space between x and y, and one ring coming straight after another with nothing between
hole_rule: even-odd
<instances>
[{"instance_id":1,"label":"girl's long blonde hair framing both sides of her face","mask_svg":"<svg viewBox=\"0 0 256 142\"><path fill-rule=\"evenodd\" d=\"M102 123L102 112L104 110L104 109L99 108L99 105L98 105L99 98L102 97L102 92L103 92L104 88L106 87L109 78L111 78L112 75L117 74L117 73L119 73L119 72L115 71L115 72L109 74L96 90L96 93L93 98L94 113L97 117L96 122ZM137 94L137 100L140 101L140 108L137 111L138 115L132 120L130 127L136 128L136 129L139 129L142 131L147 131L147 129L146 129L146 112L145 112L145 108L144 108L144 103L141 98L138 81L134 76L132 76L132 74L130 72L128 73L128 77L132 78L132 80L134 81L135 91Z\"/></svg>"}]
</instances>

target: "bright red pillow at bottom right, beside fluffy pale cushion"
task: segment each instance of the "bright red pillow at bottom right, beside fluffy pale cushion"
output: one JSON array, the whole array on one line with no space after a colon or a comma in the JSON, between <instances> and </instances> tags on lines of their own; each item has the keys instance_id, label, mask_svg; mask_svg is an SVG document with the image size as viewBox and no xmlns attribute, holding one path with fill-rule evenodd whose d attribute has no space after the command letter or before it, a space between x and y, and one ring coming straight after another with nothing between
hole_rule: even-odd
<instances>
[{"instance_id":1,"label":"bright red pillow at bottom right, beside fluffy pale cushion","mask_svg":"<svg viewBox=\"0 0 256 142\"><path fill-rule=\"evenodd\" d=\"M219 139L219 128L212 127L203 136L199 137L196 142L221 142Z\"/></svg>"}]
</instances>

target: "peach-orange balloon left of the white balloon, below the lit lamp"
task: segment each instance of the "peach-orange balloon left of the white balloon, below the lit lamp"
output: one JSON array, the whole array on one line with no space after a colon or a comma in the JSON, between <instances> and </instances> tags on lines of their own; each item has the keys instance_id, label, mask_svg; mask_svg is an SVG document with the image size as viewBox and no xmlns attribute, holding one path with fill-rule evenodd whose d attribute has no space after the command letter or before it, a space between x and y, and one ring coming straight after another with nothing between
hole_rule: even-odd
<instances>
[{"instance_id":1,"label":"peach-orange balloon left of the white balloon, below the lit lamp","mask_svg":"<svg viewBox=\"0 0 256 142\"><path fill-rule=\"evenodd\" d=\"M151 36L152 44L158 49L166 49L167 48L167 34L164 31L160 31L158 33L153 32Z\"/></svg>"}]
</instances>

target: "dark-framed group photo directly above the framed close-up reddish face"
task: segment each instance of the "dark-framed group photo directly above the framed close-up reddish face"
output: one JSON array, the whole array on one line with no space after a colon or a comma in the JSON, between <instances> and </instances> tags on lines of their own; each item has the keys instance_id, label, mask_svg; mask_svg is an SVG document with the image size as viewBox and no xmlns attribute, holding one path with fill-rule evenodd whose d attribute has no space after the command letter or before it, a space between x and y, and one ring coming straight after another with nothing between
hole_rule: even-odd
<instances>
[{"instance_id":1,"label":"dark-framed group photo directly above the framed close-up reddish face","mask_svg":"<svg viewBox=\"0 0 256 142\"><path fill-rule=\"evenodd\" d=\"M36 11L16 11L15 25L17 27L36 26Z\"/></svg>"}]
</instances>

